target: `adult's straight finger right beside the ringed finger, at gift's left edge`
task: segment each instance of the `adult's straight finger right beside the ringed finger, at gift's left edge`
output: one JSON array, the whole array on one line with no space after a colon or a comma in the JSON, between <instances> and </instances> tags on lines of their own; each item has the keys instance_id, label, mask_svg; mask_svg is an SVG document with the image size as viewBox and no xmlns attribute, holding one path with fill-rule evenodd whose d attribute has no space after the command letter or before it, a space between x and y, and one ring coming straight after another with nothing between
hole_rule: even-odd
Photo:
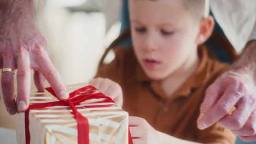
<instances>
[{"instance_id":1,"label":"adult's straight finger right beside the ringed finger, at gift's left edge","mask_svg":"<svg viewBox=\"0 0 256 144\"><path fill-rule=\"evenodd\" d=\"M24 46L20 46L18 55L18 111L25 112L28 107L31 88L31 69L30 69L30 55Z\"/></svg>"}]
</instances>

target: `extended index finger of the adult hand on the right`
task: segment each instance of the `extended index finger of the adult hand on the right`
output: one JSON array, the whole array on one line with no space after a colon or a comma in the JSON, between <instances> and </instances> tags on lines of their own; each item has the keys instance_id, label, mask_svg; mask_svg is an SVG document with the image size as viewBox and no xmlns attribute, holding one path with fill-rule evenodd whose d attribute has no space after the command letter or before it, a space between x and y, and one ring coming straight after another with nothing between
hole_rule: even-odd
<instances>
[{"instance_id":1,"label":"extended index finger of the adult hand on the right","mask_svg":"<svg viewBox=\"0 0 256 144\"><path fill-rule=\"evenodd\" d=\"M241 85L238 88L237 85L229 85L212 109L200 119L198 128L206 129L227 115L242 97L241 91L243 91Z\"/></svg>"}]
</instances>

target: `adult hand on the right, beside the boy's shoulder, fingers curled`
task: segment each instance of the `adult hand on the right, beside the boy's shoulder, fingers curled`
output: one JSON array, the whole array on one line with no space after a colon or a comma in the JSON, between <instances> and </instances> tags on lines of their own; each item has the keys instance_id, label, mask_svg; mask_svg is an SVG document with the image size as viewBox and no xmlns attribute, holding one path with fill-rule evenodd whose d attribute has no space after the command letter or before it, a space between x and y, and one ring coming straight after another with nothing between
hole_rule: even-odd
<instances>
[{"instance_id":1,"label":"adult hand on the right, beside the boy's shoulder, fingers curled","mask_svg":"<svg viewBox=\"0 0 256 144\"><path fill-rule=\"evenodd\" d=\"M207 89L197 121L200 129L218 122L243 141L256 141L255 54L252 41L230 70Z\"/></svg>"}]
</instances>

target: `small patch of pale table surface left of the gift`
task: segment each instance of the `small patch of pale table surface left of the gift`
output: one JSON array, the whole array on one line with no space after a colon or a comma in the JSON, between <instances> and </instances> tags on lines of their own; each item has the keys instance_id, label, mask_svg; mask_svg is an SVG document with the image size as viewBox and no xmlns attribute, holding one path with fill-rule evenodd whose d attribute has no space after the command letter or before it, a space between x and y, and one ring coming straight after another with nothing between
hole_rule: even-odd
<instances>
[{"instance_id":1,"label":"small patch of pale table surface left of the gift","mask_svg":"<svg viewBox=\"0 0 256 144\"><path fill-rule=\"evenodd\" d=\"M0 143L16 144L16 131L0 128Z\"/></svg>"}]
</instances>

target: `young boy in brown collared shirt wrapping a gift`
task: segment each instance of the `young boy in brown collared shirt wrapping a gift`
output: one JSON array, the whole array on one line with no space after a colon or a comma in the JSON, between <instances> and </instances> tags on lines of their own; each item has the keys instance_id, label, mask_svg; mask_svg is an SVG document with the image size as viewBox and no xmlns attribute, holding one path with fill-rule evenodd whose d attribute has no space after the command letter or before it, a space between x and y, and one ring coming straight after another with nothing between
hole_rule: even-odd
<instances>
[{"instance_id":1,"label":"young boy in brown collared shirt wrapping a gift","mask_svg":"<svg viewBox=\"0 0 256 144\"><path fill-rule=\"evenodd\" d=\"M129 1L132 47L115 47L115 59L100 64L96 75L108 79L90 84L137 116L129 121L134 143L235 142L218 124L196 127L206 88L228 68L201 45L214 27L205 5L204 0Z\"/></svg>"}]
</instances>

